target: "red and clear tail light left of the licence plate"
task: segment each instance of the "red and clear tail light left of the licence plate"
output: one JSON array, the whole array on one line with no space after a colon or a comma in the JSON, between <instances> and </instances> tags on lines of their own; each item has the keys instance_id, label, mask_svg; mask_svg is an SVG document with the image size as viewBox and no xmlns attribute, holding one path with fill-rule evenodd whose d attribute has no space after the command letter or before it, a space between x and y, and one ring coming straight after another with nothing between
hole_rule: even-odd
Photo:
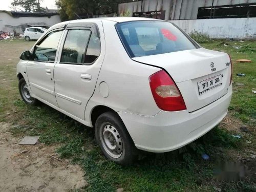
<instances>
[{"instance_id":1,"label":"red and clear tail light left of the licence plate","mask_svg":"<svg viewBox=\"0 0 256 192\"><path fill-rule=\"evenodd\" d=\"M157 106L164 111L186 110L183 97L175 82L164 71L158 71L150 76L150 88Z\"/></svg>"}]
</instances>

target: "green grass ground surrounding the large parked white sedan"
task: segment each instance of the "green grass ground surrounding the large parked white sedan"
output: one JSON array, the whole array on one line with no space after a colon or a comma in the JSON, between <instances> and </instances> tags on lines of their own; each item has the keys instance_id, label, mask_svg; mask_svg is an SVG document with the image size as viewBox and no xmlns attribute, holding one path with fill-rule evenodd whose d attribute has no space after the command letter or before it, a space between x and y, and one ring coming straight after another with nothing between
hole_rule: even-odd
<instances>
[{"instance_id":1,"label":"green grass ground surrounding the large parked white sedan","mask_svg":"<svg viewBox=\"0 0 256 192\"><path fill-rule=\"evenodd\" d=\"M256 88L256 41L231 42L228 46L222 41L202 44L208 49L225 51L233 60L233 97L230 114L238 118L248 127L255 127L255 94ZM235 44L236 43L236 44ZM180 150L164 154L141 152L139 160L133 166L116 165L100 152L94 138L94 130L57 112L47 105L39 107L27 106L17 91L15 65L20 52L28 50L34 42L0 41L0 49L4 50L0 61L0 121L12 122L10 130L14 136L40 136L39 141L46 145L57 145L60 158L68 158L79 164L89 185L82 191L215 191L218 186L226 191L250 191L255 182L243 181L217 182L213 179L213 168L216 162L234 161L231 152L246 157L246 150L255 151L255 133L243 135L243 139L233 138L225 127L216 127L202 138ZM234 49L232 46L243 46ZM247 45L247 46L245 46ZM12 60L8 60L8 59ZM235 63L239 58L251 59L251 63ZM245 77L236 77L236 73L245 73ZM7 80L3 80L7 79ZM13 80L13 81L12 81ZM244 87L236 83L244 83ZM7 113L10 113L8 115ZM252 143L245 144L246 140ZM82 150L83 148L83 150ZM201 158L206 153L208 161Z\"/></svg>"}]
</instances>

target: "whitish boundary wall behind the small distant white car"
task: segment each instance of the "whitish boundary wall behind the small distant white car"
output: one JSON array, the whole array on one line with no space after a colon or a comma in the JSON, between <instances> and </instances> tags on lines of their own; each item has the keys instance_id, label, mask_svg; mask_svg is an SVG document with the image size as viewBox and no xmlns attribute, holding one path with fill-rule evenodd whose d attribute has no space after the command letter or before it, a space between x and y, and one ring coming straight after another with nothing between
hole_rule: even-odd
<instances>
[{"instance_id":1,"label":"whitish boundary wall behind the small distant white car","mask_svg":"<svg viewBox=\"0 0 256 192\"><path fill-rule=\"evenodd\" d=\"M0 12L0 31L23 34L27 25L52 26L60 23L59 15L51 17L13 17L6 12Z\"/></svg>"}]
</instances>

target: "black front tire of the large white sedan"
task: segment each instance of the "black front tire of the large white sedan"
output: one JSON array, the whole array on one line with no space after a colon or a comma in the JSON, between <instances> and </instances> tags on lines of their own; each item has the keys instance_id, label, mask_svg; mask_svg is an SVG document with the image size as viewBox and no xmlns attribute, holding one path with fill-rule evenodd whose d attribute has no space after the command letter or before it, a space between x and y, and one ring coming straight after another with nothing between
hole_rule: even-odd
<instances>
[{"instance_id":1,"label":"black front tire of the large white sedan","mask_svg":"<svg viewBox=\"0 0 256 192\"><path fill-rule=\"evenodd\" d=\"M23 101L28 104L28 105L37 105L39 104L39 101L33 97L29 97L30 93L28 88L26 88L27 82L25 81L24 78L20 79L18 82L18 91L20 96L22 97ZM25 93L25 90L27 90L27 94ZM27 96L26 96L27 95Z\"/></svg>"}]
</instances>

